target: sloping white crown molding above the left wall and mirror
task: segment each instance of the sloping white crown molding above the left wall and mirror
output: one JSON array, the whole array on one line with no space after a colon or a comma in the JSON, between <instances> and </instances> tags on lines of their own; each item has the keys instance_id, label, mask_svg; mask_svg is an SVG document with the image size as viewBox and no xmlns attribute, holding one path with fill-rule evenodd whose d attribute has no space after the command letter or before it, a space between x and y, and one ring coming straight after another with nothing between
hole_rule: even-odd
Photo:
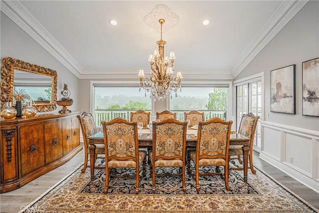
<instances>
[{"instance_id":1,"label":"sloping white crown molding above the left wall and mirror","mask_svg":"<svg viewBox=\"0 0 319 213\"><path fill-rule=\"evenodd\" d=\"M1 11L52 54L75 76L80 77L82 67L50 34L50 32L17 0L1 0Z\"/></svg>"}]
</instances>

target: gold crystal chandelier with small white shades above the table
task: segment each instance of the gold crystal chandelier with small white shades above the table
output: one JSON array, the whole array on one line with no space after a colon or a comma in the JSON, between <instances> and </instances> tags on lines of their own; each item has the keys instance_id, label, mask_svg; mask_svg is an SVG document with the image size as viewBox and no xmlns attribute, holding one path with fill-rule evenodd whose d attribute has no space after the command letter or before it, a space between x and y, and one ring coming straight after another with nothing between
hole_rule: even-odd
<instances>
[{"instance_id":1,"label":"gold crystal chandelier with small white shades above the table","mask_svg":"<svg viewBox=\"0 0 319 213\"><path fill-rule=\"evenodd\" d=\"M153 55L149 56L149 61L151 64L151 76L145 77L144 70L140 69L140 91L141 88L145 89L146 92L151 92L150 98L152 95L158 99L163 100L166 97L172 98L171 93L175 93L177 97L177 89L180 88L180 82L182 75L180 72L177 72L175 78L172 77L174 73L173 63L175 59L174 52L169 53L168 56L164 56L164 45L166 41L162 40L162 25L165 22L163 18L159 19L160 22L160 40L156 43L158 44L158 49L154 50Z\"/></svg>"}]
</instances>

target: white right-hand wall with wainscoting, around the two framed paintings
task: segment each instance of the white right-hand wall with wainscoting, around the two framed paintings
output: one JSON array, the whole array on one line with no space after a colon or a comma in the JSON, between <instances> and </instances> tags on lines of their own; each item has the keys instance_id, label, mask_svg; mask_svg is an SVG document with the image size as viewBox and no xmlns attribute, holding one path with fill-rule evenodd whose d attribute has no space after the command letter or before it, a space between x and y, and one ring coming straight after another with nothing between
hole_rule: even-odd
<instances>
[{"instance_id":1,"label":"white right-hand wall with wainscoting, around the two framed paintings","mask_svg":"<svg viewBox=\"0 0 319 213\"><path fill-rule=\"evenodd\" d=\"M309 1L236 80L265 71L260 157L319 192L319 117L302 115L302 62L317 57L319 1ZM296 64L296 115L270 112L270 71L292 64Z\"/></svg>"}]
</instances>

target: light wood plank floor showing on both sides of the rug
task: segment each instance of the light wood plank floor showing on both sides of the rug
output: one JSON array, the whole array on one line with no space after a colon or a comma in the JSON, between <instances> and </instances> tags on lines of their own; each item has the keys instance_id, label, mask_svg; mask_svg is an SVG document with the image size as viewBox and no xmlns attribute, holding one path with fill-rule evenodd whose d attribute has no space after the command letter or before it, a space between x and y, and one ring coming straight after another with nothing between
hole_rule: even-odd
<instances>
[{"instance_id":1,"label":"light wood plank floor showing on both sides of the rug","mask_svg":"<svg viewBox=\"0 0 319 213\"><path fill-rule=\"evenodd\" d=\"M35 179L20 189L12 192L0 194L0 212L1 213L17 213L38 198L49 188L55 185L59 180L68 175L84 160L84 151L79 152L69 162L61 167ZM315 191L300 184L285 173L258 158L258 154L254 153L254 165L271 175L277 181L282 183L288 189L299 195L301 198L309 202L315 208L319 209L319 194ZM89 172L87 169L86 172ZM248 176L249 180L249 176Z\"/></svg>"}]
</instances>

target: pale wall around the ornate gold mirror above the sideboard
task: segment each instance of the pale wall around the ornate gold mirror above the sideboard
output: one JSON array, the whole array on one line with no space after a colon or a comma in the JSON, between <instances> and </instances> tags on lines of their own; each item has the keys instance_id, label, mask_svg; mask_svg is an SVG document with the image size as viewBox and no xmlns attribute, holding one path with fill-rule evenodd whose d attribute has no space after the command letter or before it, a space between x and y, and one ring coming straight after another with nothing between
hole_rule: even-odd
<instances>
[{"instance_id":1,"label":"pale wall around the ornate gold mirror above the sideboard","mask_svg":"<svg viewBox=\"0 0 319 213\"><path fill-rule=\"evenodd\" d=\"M78 93L78 78L71 73L64 65L46 51L40 44L24 32L3 12L0 17L0 58L11 57L19 59L31 64L36 64L46 68L56 70L57 78L57 98L61 98L64 81L68 82L68 89L71 91L70 97L74 103L68 107L72 111L79 110L79 94ZM2 66L2 62L1 62ZM57 106L56 111L62 107Z\"/></svg>"}]
</instances>

